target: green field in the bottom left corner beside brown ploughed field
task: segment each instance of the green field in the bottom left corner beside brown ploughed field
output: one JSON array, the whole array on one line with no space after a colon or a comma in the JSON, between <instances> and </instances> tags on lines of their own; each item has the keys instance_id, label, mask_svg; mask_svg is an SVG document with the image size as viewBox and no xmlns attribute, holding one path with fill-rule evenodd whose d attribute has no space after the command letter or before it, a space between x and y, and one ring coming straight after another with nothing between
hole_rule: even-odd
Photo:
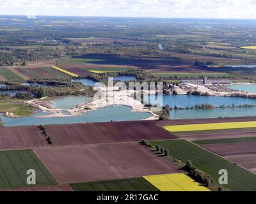
<instances>
[{"instance_id":1,"label":"green field in the bottom left corner beside brown ploughed field","mask_svg":"<svg viewBox=\"0 0 256 204\"><path fill-rule=\"evenodd\" d=\"M31 187L26 182L29 169L36 171L36 186L56 184L32 150L12 150L0 152L0 188Z\"/></svg>"}]
</instances>

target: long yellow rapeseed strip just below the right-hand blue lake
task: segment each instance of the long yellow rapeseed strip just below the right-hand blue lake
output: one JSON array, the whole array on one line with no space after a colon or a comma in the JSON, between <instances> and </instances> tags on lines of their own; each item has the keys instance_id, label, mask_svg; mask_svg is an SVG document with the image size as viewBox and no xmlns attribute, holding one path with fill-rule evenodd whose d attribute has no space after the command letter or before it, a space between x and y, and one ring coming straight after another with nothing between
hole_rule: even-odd
<instances>
[{"instance_id":1,"label":"long yellow rapeseed strip just below the right-hand blue lake","mask_svg":"<svg viewBox=\"0 0 256 204\"><path fill-rule=\"evenodd\" d=\"M202 130L235 129L235 128L256 128L256 121L164 126L164 129L166 129L169 132L202 131Z\"/></svg>"}]
</instances>

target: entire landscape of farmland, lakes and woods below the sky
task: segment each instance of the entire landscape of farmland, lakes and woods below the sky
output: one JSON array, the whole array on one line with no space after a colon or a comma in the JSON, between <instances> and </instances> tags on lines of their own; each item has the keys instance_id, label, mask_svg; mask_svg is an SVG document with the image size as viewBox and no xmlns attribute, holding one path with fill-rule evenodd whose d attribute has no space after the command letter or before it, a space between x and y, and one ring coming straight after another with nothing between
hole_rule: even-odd
<instances>
[{"instance_id":1,"label":"entire landscape of farmland, lakes and woods below the sky","mask_svg":"<svg viewBox=\"0 0 256 204\"><path fill-rule=\"evenodd\" d=\"M256 191L255 29L0 17L0 191Z\"/></svg>"}]
</instances>

